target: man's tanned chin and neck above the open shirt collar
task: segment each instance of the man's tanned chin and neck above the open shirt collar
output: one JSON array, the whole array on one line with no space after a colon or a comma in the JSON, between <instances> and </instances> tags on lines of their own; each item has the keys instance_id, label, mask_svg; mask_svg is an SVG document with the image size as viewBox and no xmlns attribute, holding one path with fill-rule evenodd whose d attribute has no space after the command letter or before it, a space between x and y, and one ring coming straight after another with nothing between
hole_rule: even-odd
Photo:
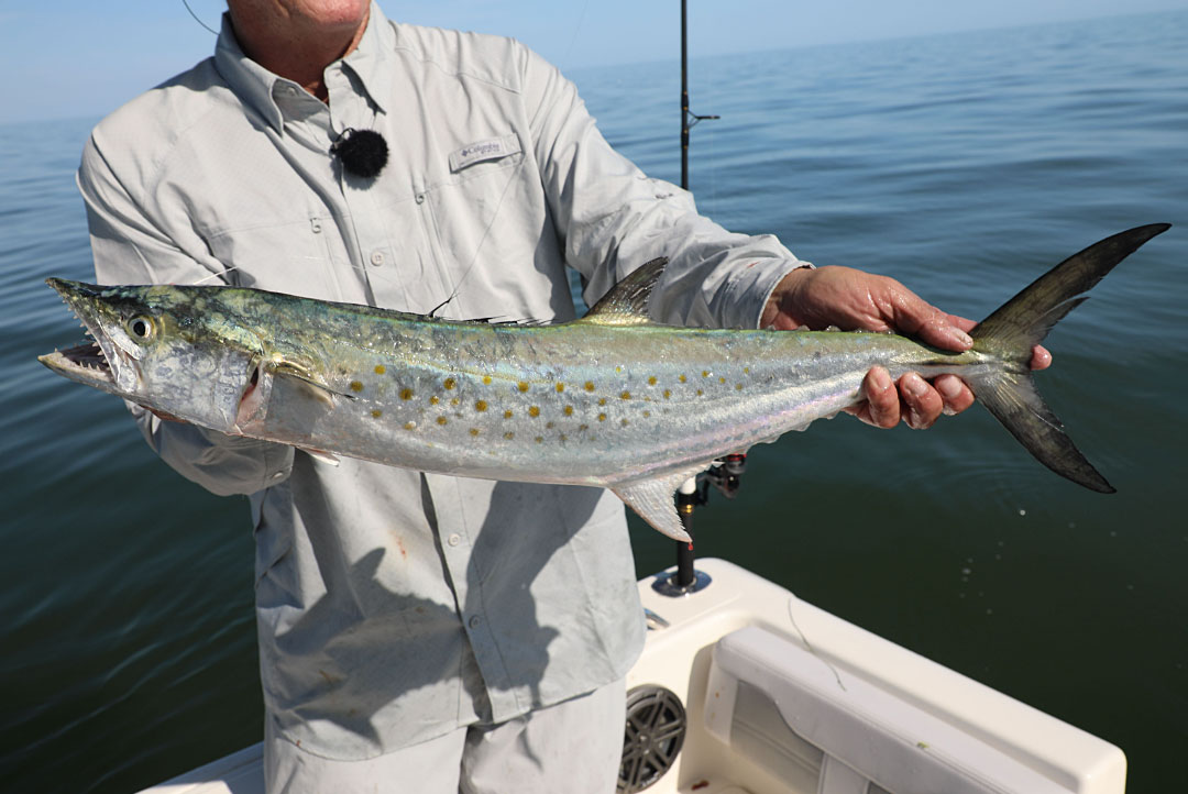
<instances>
[{"instance_id":1,"label":"man's tanned chin and neck above the open shirt collar","mask_svg":"<svg viewBox=\"0 0 1188 794\"><path fill-rule=\"evenodd\" d=\"M236 13L235 4L232 4L230 12L235 38L247 57L274 75L303 85L323 102L329 101L323 71L359 46L369 15L368 9L361 20L316 27L303 25L302 20L280 20L252 13L251 9Z\"/></svg>"}]
</instances>

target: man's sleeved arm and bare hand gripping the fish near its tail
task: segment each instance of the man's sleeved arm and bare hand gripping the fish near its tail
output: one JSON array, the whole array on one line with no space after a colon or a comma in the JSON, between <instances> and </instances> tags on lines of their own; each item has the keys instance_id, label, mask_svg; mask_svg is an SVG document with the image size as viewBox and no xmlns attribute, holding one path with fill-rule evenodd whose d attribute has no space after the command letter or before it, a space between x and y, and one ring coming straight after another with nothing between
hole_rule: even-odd
<instances>
[{"instance_id":1,"label":"man's sleeved arm and bare hand gripping the fish near its tail","mask_svg":"<svg viewBox=\"0 0 1188 794\"><path fill-rule=\"evenodd\" d=\"M567 260L598 297L633 267L656 256L670 263L658 286L659 316L685 325L898 330L947 350L971 344L974 323L920 299L893 279L851 268L804 267L770 235L747 236L697 215L691 196L649 179L614 152L586 112L576 89L551 65L526 53L525 101L532 113L536 154ZM1037 348L1032 367L1051 357ZM898 388L897 388L898 387ZM874 368L864 382L859 419L892 427L901 418L929 427L940 414L960 413L973 393L958 377L929 383L909 373L892 383Z\"/></svg>"}]
</instances>

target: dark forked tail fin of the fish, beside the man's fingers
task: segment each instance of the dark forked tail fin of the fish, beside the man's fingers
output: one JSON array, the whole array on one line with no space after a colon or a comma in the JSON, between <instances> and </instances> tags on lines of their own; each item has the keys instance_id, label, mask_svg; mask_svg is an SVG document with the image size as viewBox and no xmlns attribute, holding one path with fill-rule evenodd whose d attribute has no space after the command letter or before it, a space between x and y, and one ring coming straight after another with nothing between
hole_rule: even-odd
<instances>
[{"instance_id":1,"label":"dark forked tail fin of the fish, beside the man's fingers","mask_svg":"<svg viewBox=\"0 0 1188 794\"><path fill-rule=\"evenodd\" d=\"M1068 312L1086 300L1118 262L1157 234L1171 228L1152 223L1106 237L1069 256L1015 296L971 331L974 350L1004 367L969 380L978 400L1045 466L1102 494L1114 493L1044 404L1031 379L1031 348Z\"/></svg>"}]
</instances>

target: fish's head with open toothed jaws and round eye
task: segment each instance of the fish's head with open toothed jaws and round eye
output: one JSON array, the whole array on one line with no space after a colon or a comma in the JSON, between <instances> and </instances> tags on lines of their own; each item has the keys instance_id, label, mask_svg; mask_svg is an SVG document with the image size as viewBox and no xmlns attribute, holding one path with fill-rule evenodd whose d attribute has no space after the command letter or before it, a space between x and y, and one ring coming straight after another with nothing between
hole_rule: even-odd
<instances>
[{"instance_id":1,"label":"fish's head with open toothed jaws and round eye","mask_svg":"<svg viewBox=\"0 0 1188 794\"><path fill-rule=\"evenodd\" d=\"M39 357L59 375L226 433L259 402L260 342L217 291L46 282L91 337Z\"/></svg>"}]
</instances>

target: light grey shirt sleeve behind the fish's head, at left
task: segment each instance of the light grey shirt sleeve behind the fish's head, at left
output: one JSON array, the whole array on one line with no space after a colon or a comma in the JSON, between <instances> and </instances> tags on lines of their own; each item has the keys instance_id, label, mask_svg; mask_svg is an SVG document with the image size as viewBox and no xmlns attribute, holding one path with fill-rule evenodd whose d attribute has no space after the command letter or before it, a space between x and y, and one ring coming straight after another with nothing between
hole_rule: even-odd
<instances>
[{"instance_id":1,"label":"light grey shirt sleeve behind the fish's head, at left","mask_svg":"<svg viewBox=\"0 0 1188 794\"><path fill-rule=\"evenodd\" d=\"M96 135L97 135L96 131ZM78 190L87 205L95 278L100 284L226 284L223 267L168 230L165 214L146 208L151 174L129 158L116 167L96 135L83 150ZM139 190L131 185L140 185ZM139 193L139 195L138 195ZM128 404L148 445L182 476L219 495L253 494L289 477L293 449L163 421Z\"/></svg>"}]
</instances>

